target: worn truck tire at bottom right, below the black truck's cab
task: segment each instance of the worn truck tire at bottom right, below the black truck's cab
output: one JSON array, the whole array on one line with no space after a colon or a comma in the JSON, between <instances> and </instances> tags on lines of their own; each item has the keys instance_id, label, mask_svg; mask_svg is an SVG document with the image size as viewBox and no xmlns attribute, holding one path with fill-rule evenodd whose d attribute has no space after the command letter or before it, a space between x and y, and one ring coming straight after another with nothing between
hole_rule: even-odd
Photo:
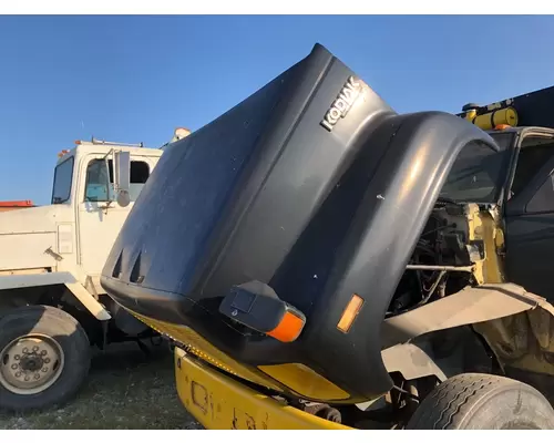
<instances>
[{"instance_id":1,"label":"worn truck tire at bottom right, below the black truck's cab","mask_svg":"<svg viewBox=\"0 0 554 443\"><path fill-rule=\"evenodd\" d=\"M516 380L465 373L439 384L410 419L409 430L554 429L554 410Z\"/></svg>"}]
</instances>

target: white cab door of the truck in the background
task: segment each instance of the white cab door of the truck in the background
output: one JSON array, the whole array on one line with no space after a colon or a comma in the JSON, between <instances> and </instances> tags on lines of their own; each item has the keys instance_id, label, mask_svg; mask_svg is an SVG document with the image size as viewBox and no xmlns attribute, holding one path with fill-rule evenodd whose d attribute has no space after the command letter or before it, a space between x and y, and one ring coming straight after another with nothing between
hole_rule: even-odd
<instances>
[{"instance_id":1,"label":"white cab door of the truck in the background","mask_svg":"<svg viewBox=\"0 0 554 443\"><path fill-rule=\"evenodd\" d=\"M131 156L129 206L117 204L113 187L113 158L88 155L81 166L82 186L78 215L79 262L85 276L96 284L110 250L134 202L148 178L154 162L146 156Z\"/></svg>"}]
</instances>

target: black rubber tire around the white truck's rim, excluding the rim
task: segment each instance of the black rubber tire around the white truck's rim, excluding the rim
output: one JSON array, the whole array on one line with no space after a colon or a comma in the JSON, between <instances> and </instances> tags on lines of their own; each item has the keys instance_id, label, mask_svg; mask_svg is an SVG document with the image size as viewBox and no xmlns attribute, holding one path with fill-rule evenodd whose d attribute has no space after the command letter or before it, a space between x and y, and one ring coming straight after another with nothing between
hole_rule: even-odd
<instances>
[{"instance_id":1,"label":"black rubber tire around the white truck's rim, excluding the rim","mask_svg":"<svg viewBox=\"0 0 554 443\"><path fill-rule=\"evenodd\" d=\"M72 316L50 306L28 306L0 317L0 350L29 333L49 336L60 344L64 353L62 372L51 387L37 394L16 394L0 384L0 409L28 411L62 405L76 394L89 374L90 341Z\"/></svg>"}]
</instances>

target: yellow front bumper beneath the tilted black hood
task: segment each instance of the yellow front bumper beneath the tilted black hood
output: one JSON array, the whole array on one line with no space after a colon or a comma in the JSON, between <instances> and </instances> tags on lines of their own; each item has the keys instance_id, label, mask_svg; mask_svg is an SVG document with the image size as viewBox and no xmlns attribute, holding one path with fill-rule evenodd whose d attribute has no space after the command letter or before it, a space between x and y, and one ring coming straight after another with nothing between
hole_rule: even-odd
<instances>
[{"instance_id":1,"label":"yellow front bumper beneath the tilted black hood","mask_svg":"<svg viewBox=\"0 0 554 443\"><path fill-rule=\"evenodd\" d=\"M175 349L175 379L186 410L208 430L349 430L264 395Z\"/></svg>"}]
</instances>

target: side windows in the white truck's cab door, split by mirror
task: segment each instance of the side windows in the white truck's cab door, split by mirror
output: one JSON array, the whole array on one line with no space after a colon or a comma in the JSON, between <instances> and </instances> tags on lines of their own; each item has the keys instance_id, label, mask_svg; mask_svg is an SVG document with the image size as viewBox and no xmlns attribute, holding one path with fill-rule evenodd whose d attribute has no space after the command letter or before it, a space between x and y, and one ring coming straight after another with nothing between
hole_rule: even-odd
<instances>
[{"instance_id":1,"label":"side windows in the white truck's cab door, split by mirror","mask_svg":"<svg viewBox=\"0 0 554 443\"><path fill-rule=\"evenodd\" d=\"M131 202L135 202L150 176L150 165L146 162L131 162ZM94 158L86 167L85 202L113 202L113 162Z\"/></svg>"}]
</instances>

